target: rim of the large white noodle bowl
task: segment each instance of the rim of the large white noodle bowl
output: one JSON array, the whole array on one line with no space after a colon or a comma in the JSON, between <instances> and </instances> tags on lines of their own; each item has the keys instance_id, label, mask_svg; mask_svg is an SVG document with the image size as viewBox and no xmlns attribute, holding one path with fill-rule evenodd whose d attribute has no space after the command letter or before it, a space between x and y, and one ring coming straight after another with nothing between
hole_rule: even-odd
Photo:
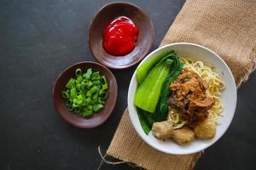
<instances>
[{"instance_id":1,"label":"rim of the large white noodle bowl","mask_svg":"<svg viewBox=\"0 0 256 170\"><path fill-rule=\"evenodd\" d=\"M156 53L156 52L162 50L163 48L170 48L170 47L175 46L175 45L191 45L191 46L196 46L196 47L198 47L198 48L203 48L203 49L207 50L208 52L212 53L213 55L215 55L219 60L221 60L221 61L223 62L223 64L225 65L225 67L227 67L227 71L228 71L229 74L231 75L231 79L232 79L231 85L233 86L233 88L234 88L234 86L235 86L235 88L236 88L236 82L235 82L234 76L233 76L232 72L230 71L230 67L224 62L224 59L222 59L218 54L216 54L215 52L213 52L211 49L206 48L206 47L204 47L204 46L202 46L202 45L200 45L200 44L191 43L191 42L173 42L173 43L169 43L169 44L166 44L166 45L164 45L164 46L162 46L162 47L160 47L160 48L156 48L154 51L152 51L150 54L148 54L148 55L143 59L143 61L147 60L149 56L152 56L154 53ZM140 65L142 65L142 64L143 64L143 62L140 63ZM140 65L137 65L137 67L139 67ZM132 77L131 77L131 80L134 79L134 78L136 78L136 70L133 72L133 75L132 75ZM131 82L132 82L132 81L131 81ZM220 139L220 138L224 135L224 133L226 133L227 129L230 127L230 124L231 124L231 122L232 122L232 120L233 120L233 118L234 118L235 111L236 111L236 103L237 103L237 90L235 90L235 96L234 96L234 101L235 101L234 104L235 104L235 105L234 105L234 108L233 108L233 110L232 110L232 112L231 112L230 121L227 123L228 126L226 126L226 127L224 128L223 133L220 133L220 135L218 136L218 138L217 138L212 144L207 144L206 146L201 147L201 148L199 148L199 149L197 149L197 150L192 150L192 151L189 150L189 151L187 151L187 152L182 152L182 153L180 153L180 152L175 152L175 151L173 152L172 150L165 150L165 149L162 149L161 147L158 146L158 144L154 144L154 142L150 142L150 140L146 139L146 137L144 137L143 134L140 133L139 130L137 129L137 126L136 126L136 124L137 124L136 122L137 122L137 121L132 118L131 111L129 111L129 109L131 109L131 105L129 105L129 101L131 100L131 99L130 99L130 94L131 94L131 82L130 82L130 84L129 84L128 95L127 95L127 105L128 105L128 112L129 112L129 117L130 117L130 120L131 120L131 124L132 124L132 126L135 128L137 134L141 137L141 139L143 139L144 142L146 142L148 145L150 145L150 146L153 147L154 149L160 150L161 152L164 152L164 153L166 153L166 154L172 154L172 155L187 155L187 154L193 154L193 153L199 152L199 151L201 151L201 150L207 149L207 148L210 147L212 144L215 144L215 143L218 141L218 139ZM236 89L237 89L237 88L236 88ZM134 99L132 99L132 100L134 100ZM132 103L133 103L133 102L132 102ZM133 113L133 114L135 114L135 113ZM136 111L136 114L137 114L137 111Z\"/></svg>"}]
</instances>

